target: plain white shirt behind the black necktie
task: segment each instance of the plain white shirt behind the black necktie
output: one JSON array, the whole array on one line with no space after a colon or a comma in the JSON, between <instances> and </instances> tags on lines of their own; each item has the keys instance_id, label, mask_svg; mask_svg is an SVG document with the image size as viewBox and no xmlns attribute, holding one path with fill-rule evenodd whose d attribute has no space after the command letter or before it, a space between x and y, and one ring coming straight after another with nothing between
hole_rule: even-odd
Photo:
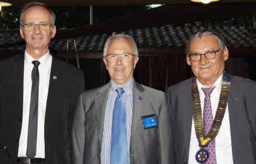
<instances>
[{"instance_id":1,"label":"plain white shirt behind the black necktie","mask_svg":"<svg viewBox=\"0 0 256 164\"><path fill-rule=\"evenodd\" d=\"M21 136L19 138L18 157L26 156L26 144L28 140L28 119L29 107L31 98L31 72L34 67L32 62L35 59L25 51L24 62L24 93L23 93L23 118ZM38 91L38 131L36 141L35 158L45 158L45 139L44 139L44 124L45 124L45 109L49 88L49 77L51 73L52 56L48 52L38 59L40 62L39 70L39 91Z\"/></svg>"}]
</instances>

